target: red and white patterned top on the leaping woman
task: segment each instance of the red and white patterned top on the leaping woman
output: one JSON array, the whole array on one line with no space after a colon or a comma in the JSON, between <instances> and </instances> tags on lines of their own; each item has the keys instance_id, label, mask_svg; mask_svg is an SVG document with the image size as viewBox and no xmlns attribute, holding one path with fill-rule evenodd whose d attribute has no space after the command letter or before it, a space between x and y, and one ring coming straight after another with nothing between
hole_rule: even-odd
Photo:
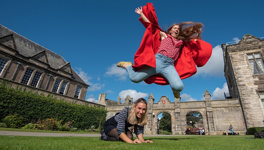
<instances>
[{"instance_id":1,"label":"red and white patterned top on the leaping woman","mask_svg":"<svg viewBox=\"0 0 264 150\"><path fill-rule=\"evenodd\" d=\"M157 53L176 60L179 56L180 48L183 42L182 40L172 38L171 35L167 34L167 36L167 38L161 40Z\"/></svg>"}]
</instances>

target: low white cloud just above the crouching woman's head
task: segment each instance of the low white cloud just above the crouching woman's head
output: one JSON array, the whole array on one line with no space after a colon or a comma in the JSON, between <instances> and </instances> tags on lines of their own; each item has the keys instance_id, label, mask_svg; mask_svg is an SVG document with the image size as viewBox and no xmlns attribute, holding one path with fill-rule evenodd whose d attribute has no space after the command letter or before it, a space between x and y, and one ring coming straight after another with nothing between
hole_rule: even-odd
<instances>
[{"instance_id":1,"label":"low white cloud just above the crouching woman's head","mask_svg":"<svg viewBox=\"0 0 264 150\"><path fill-rule=\"evenodd\" d=\"M141 92L136 92L135 90L123 90L118 94L121 97L121 101L124 102L126 99L127 95L130 95L130 97L133 98L133 102L136 101L138 98L145 98L149 94L147 93L141 93ZM146 98L145 98L146 99Z\"/></svg>"}]
</instances>

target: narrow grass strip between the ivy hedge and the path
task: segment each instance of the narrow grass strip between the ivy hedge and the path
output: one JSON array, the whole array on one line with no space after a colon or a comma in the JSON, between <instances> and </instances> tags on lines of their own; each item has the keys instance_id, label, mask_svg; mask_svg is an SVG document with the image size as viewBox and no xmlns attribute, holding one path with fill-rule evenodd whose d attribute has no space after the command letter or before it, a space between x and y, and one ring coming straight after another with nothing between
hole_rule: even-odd
<instances>
[{"instance_id":1,"label":"narrow grass strip between the ivy hedge and the path","mask_svg":"<svg viewBox=\"0 0 264 150\"><path fill-rule=\"evenodd\" d=\"M47 131L47 130L29 130L17 128L0 128L0 131L23 131L23 132L50 132L50 133L98 133L99 132L84 132L84 131Z\"/></svg>"}]
</instances>

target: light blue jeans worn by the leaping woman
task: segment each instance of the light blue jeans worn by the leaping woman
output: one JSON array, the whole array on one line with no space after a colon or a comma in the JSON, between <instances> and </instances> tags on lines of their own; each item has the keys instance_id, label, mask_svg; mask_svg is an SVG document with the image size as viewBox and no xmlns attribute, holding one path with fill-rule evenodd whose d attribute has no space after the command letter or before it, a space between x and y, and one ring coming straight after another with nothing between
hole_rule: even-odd
<instances>
[{"instance_id":1,"label":"light blue jeans worn by the leaping woman","mask_svg":"<svg viewBox=\"0 0 264 150\"><path fill-rule=\"evenodd\" d=\"M170 83L174 92L183 90L183 83L174 67L174 60L170 57L156 54L156 68L144 66L135 71L132 66L127 66L127 71L132 82L139 83L152 75L162 75Z\"/></svg>"}]
</instances>

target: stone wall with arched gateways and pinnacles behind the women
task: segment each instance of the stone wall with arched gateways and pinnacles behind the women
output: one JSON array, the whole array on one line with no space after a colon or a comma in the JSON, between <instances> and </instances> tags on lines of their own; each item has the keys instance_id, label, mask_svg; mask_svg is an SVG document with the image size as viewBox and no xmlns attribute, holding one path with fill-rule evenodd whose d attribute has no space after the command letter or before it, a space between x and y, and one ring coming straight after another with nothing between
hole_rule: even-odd
<instances>
[{"instance_id":1,"label":"stone wall with arched gateways and pinnacles behind the women","mask_svg":"<svg viewBox=\"0 0 264 150\"><path fill-rule=\"evenodd\" d=\"M211 100L211 95L207 90L204 96L205 101L194 102L180 102L179 98L175 98L175 102L171 102L167 96L162 96L157 103L154 103L154 96L150 94L148 98L148 123L144 132L157 134L157 116L162 112L168 112L172 120L172 134L185 134L186 115L188 112L196 111L202 114L206 135L222 135L230 124L233 125L235 131L240 131L240 134L246 133L239 99ZM132 99L128 96L125 103L106 106L109 111L107 119L126 107L132 107L131 101Z\"/></svg>"}]
</instances>

